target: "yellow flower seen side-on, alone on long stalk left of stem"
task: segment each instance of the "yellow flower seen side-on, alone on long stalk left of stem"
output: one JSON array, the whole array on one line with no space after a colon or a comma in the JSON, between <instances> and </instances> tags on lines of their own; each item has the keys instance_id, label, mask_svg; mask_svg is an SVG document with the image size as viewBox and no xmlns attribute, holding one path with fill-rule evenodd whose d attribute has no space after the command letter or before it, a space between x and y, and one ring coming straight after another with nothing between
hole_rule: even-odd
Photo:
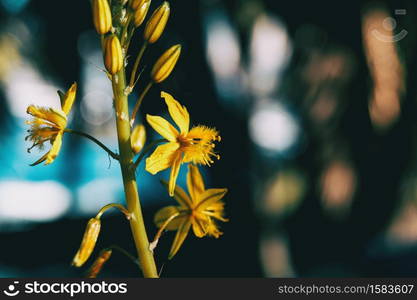
<instances>
[{"instance_id":1,"label":"yellow flower seen side-on, alone on long stalk left of stem","mask_svg":"<svg viewBox=\"0 0 417 300\"><path fill-rule=\"evenodd\" d=\"M59 150L61 149L62 136L67 126L67 115L71 111L72 104L74 103L77 93L77 84L74 83L70 89L65 93L58 92L61 98L61 109L37 107L30 105L27 108L27 113L34 118L31 121L27 121L31 127L28 130L29 135L26 140L33 142L33 145L28 149L34 147L42 149L45 142L50 142L51 149L44 154L40 159L31 164L35 166L45 161L45 165L52 163L57 157Z\"/></svg>"}]
</instances>

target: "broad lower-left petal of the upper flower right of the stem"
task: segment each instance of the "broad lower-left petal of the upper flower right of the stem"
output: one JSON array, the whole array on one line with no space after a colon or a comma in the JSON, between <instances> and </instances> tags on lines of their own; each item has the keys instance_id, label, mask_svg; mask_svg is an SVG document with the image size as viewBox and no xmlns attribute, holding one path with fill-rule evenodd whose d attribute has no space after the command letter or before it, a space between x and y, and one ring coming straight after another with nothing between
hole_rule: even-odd
<instances>
[{"instance_id":1,"label":"broad lower-left petal of the upper flower right of the stem","mask_svg":"<svg viewBox=\"0 0 417 300\"><path fill-rule=\"evenodd\" d=\"M166 143L158 146L151 156L146 159L146 171L155 175L159 171L171 167L178 148L178 143Z\"/></svg>"}]
</instances>

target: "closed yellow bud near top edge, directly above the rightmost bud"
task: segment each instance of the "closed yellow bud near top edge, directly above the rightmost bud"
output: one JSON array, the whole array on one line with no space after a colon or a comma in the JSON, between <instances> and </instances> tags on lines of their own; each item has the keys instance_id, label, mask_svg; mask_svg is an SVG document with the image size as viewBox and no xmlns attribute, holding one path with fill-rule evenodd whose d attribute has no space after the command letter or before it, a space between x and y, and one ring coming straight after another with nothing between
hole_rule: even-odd
<instances>
[{"instance_id":1,"label":"closed yellow bud near top edge, directly above the rightmost bud","mask_svg":"<svg viewBox=\"0 0 417 300\"><path fill-rule=\"evenodd\" d=\"M145 31L143 34L143 37L148 43L155 43L161 36L162 32L164 32L165 25L168 21L169 12L169 3L166 1L162 3L157 9L155 9L152 16L146 23Z\"/></svg>"}]
</instances>

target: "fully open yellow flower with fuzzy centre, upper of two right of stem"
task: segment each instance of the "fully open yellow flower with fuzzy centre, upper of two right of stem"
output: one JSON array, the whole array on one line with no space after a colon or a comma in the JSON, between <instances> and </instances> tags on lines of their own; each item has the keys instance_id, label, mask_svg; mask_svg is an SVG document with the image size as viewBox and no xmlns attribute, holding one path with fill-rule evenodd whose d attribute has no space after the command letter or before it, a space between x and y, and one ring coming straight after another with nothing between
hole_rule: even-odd
<instances>
[{"instance_id":1,"label":"fully open yellow flower with fuzzy centre, upper of two right of stem","mask_svg":"<svg viewBox=\"0 0 417 300\"><path fill-rule=\"evenodd\" d=\"M192 162L210 165L213 163L213 157L220 158L214 152L214 141L220 141L221 138L217 130L206 126L198 125L190 130L187 109L168 93L161 92L161 97L165 98L169 114L180 130L162 117L146 115L149 125L168 140L168 143L158 146L146 159L146 170L155 175L159 171L171 168L169 194L174 196L181 164Z\"/></svg>"}]
</instances>

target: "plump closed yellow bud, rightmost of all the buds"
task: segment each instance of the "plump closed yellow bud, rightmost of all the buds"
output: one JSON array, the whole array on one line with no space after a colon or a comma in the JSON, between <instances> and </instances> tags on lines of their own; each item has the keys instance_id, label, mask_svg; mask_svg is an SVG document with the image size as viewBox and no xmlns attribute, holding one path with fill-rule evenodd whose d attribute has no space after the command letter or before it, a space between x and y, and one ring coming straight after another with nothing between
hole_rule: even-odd
<instances>
[{"instance_id":1,"label":"plump closed yellow bud, rightmost of all the buds","mask_svg":"<svg viewBox=\"0 0 417 300\"><path fill-rule=\"evenodd\" d=\"M151 71L151 78L154 82L164 81L175 67L181 54L181 45L175 45L165 51L156 61Z\"/></svg>"}]
</instances>

